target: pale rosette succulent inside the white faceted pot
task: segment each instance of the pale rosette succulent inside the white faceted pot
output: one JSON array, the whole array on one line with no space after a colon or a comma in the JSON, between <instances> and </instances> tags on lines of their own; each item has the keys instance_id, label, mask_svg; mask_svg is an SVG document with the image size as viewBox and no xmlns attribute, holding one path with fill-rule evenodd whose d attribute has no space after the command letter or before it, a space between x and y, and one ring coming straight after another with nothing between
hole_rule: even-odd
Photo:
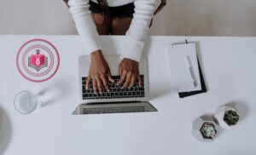
<instances>
[{"instance_id":1,"label":"pale rosette succulent inside the white faceted pot","mask_svg":"<svg viewBox=\"0 0 256 155\"><path fill-rule=\"evenodd\" d=\"M213 139L217 135L217 129L213 123L203 123L201 126L201 135L206 139Z\"/></svg>"}]
</instances>

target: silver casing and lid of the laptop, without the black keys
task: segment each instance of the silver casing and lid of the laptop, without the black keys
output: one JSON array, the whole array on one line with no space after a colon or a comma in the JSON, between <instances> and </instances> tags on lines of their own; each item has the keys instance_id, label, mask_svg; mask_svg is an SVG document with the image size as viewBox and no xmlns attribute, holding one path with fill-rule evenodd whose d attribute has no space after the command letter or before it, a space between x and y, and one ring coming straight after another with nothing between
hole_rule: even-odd
<instances>
[{"instance_id":1,"label":"silver casing and lid of the laptop, without the black keys","mask_svg":"<svg viewBox=\"0 0 256 155\"><path fill-rule=\"evenodd\" d=\"M105 55L112 76L118 76L119 63L121 58L119 55ZM156 112L157 110L149 102L148 88L148 64L146 56L142 56L139 63L140 74L143 75L144 97L133 98L112 98L112 99L83 99L83 81L84 77L88 77L90 69L90 56L83 55L79 57L79 99L80 105L75 109L73 114L90 114L88 109L93 109L91 113L114 113L114 112ZM141 108L145 106L145 108ZM117 108L118 106L118 108ZM140 107L140 108L137 108ZM103 108L103 110L97 110ZM129 109L130 108L130 109ZM84 110L85 109L85 110Z\"/></svg>"}]
</instances>

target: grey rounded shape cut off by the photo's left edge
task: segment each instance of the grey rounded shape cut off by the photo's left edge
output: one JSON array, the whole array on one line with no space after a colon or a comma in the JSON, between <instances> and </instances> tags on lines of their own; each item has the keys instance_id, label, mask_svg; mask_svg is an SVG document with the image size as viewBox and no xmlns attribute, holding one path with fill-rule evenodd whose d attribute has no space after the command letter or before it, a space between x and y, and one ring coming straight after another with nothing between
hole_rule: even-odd
<instances>
[{"instance_id":1,"label":"grey rounded shape cut off by the photo's left edge","mask_svg":"<svg viewBox=\"0 0 256 155\"><path fill-rule=\"evenodd\" d=\"M8 114L0 106L0 154L3 154L9 146L12 128Z\"/></svg>"}]
</instances>

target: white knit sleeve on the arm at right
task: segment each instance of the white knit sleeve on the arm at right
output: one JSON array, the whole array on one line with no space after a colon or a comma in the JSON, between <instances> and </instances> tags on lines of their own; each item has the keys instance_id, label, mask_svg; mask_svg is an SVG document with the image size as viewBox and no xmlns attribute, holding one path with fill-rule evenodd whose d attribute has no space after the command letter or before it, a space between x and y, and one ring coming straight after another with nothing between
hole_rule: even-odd
<instances>
[{"instance_id":1,"label":"white knit sleeve on the arm at right","mask_svg":"<svg viewBox=\"0 0 256 155\"><path fill-rule=\"evenodd\" d=\"M131 26L125 34L126 42L122 58L129 58L138 62L141 60L155 4L156 0L135 0L135 13Z\"/></svg>"}]
</instances>

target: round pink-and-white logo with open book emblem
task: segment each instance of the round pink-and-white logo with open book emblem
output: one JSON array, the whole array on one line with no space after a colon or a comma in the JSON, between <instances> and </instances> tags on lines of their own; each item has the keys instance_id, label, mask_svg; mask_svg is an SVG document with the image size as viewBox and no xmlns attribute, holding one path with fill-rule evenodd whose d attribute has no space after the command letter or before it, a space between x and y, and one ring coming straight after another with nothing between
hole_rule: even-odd
<instances>
[{"instance_id":1,"label":"round pink-and-white logo with open book emblem","mask_svg":"<svg viewBox=\"0 0 256 155\"><path fill-rule=\"evenodd\" d=\"M20 47L16 66L24 78L40 83L55 75L60 66L60 56L52 43L32 39Z\"/></svg>"}]
</instances>

